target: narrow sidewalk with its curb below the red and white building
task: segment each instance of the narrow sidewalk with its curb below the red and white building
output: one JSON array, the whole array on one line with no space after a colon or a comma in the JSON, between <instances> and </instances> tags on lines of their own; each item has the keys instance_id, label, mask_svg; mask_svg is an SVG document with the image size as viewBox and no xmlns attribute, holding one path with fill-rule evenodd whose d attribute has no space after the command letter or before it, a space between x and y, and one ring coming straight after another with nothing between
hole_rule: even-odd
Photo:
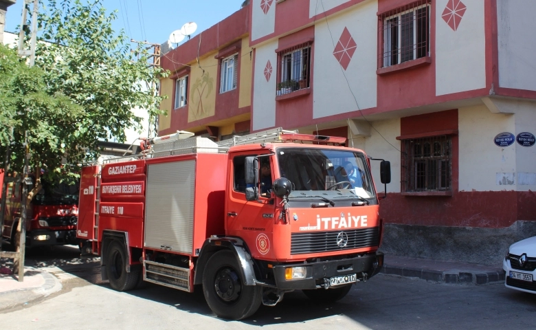
<instances>
[{"instance_id":1,"label":"narrow sidewalk with its curb below the red and white building","mask_svg":"<svg viewBox=\"0 0 536 330\"><path fill-rule=\"evenodd\" d=\"M501 265L491 267L392 255L386 255L383 263L380 271L383 274L421 278L426 281L473 285L504 282L504 271Z\"/></svg>"}]
</instances>

